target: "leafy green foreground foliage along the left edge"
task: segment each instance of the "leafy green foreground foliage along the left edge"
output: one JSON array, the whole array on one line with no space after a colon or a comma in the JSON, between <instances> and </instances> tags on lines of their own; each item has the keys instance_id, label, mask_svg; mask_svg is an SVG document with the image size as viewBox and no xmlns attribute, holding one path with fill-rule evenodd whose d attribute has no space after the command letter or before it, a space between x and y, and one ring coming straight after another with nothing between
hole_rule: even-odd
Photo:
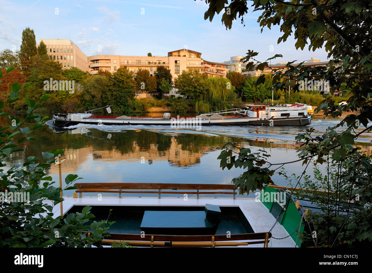
<instances>
[{"instance_id":1,"label":"leafy green foreground foliage along the left edge","mask_svg":"<svg viewBox=\"0 0 372 273\"><path fill-rule=\"evenodd\" d=\"M7 72L10 72L8 70ZM0 73L0 78L2 73ZM29 87L25 84L20 89L19 83L12 84L8 103L20 100L19 94ZM53 213L55 206L62 202L59 197L61 190L76 189L72 183L79 179L75 174L65 178L66 187L55 187L48 168L54 163L54 157L64 151L43 152L45 161L29 156L26 162L17 162L7 166L6 162L23 148L19 146L24 141L32 141L33 132L42 127L47 116L33 114L45 100L43 94L39 100L26 97L28 111L26 118L12 117L3 112L4 102L0 101L0 115L9 116L10 127L0 128L0 192L4 195L0 200L0 246L1 247L91 247L100 246L108 234L106 221L91 222L94 215L90 207L85 207L81 213L70 213L64 219ZM35 121L31 128L26 122ZM5 196L6 195L6 196ZM22 196L22 197L21 197ZM5 198L4 198L5 197ZM89 225L90 223L90 225ZM91 236L87 232L91 229Z\"/></svg>"}]
</instances>

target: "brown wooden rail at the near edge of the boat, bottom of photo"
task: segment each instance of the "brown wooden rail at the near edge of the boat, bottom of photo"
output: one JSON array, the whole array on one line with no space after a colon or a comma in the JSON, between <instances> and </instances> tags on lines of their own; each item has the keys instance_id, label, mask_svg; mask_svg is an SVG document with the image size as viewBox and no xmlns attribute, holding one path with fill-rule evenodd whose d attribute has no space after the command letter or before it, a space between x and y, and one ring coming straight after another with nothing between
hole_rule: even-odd
<instances>
[{"instance_id":1,"label":"brown wooden rail at the near edge of the boat, bottom of photo","mask_svg":"<svg viewBox=\"0 0 372 273\"><path fill-rule=\"evenodd\" d=\"M148 247L228 247L247 246L251 244L264 244L268 247L270 232L231 234L228 238L223 235L145 235L109 233L108 239L102 240L104 244L125 243L133 246ZM233 242L242 240L256 240L248 242ZM257 241L259 240L259 241Z\"/></svg>"}]
</instances>

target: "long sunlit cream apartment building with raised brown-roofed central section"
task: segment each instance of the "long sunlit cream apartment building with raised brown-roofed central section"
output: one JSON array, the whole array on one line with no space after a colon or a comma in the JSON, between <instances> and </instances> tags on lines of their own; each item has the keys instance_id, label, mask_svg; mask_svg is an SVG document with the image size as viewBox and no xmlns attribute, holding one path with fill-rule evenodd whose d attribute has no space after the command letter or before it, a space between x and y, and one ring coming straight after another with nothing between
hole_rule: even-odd
<instances>
[{"instance_id":1,"label":"long sunlit cream apartment building with raised brown-roofed central section","mask_svg":"<svg viewBox=\"0 0 372 273\"><path fill-rule=\"evenodd\" d=\"M89 57L90 74L97 74L98 70L115 72L120 67L137 73L139 69L147 69L154 76L157 67L164 66L170 70L173 80L182 71L198 69L212 77L226 77L228 68L226 64L209 62L201 58L201 53L188 49L179 49L168 52L168 56L121 56L121 55L94 55Z\"/></svg>"}]
</instances>

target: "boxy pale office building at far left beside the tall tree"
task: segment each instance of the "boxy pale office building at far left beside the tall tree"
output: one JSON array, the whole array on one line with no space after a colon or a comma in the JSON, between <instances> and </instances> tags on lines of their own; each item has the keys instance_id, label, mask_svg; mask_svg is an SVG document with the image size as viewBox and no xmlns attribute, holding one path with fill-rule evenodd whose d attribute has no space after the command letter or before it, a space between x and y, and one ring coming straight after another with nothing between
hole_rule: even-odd
<instances>
[{"instance_id":1,"label":"boxy pale office building at far left beside the tall tree","mask_svg":"<svg viewBox=\"0 0 372 273\"><path fill-rule=\"evenodd\" d=\"M89 71L89 59L71 40L65 39L39 39L47 46L47 53L52 60L60 62L62 68L76 67ZM37 45L38 46L38 45Z\"/></svg>"}]
</instances>

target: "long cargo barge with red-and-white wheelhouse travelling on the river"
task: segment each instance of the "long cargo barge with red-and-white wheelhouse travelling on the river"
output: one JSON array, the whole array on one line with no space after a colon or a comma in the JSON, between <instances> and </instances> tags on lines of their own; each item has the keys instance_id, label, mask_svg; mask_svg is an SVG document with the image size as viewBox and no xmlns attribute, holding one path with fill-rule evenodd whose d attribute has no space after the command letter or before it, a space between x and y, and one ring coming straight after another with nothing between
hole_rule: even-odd
<instances>
[{"instance_id":1,"label":"long cargo barge with red-and-white wheelhouse travelling on the river","mask_svg":"<svg viewBox=\"0 0 372 273\"><path fill-rule=\"evenodd\" d=\"M87 111L85 113L54 114L52 123L53 126L59 128L79 123L95 125L169 125L176 128L200 128L208 125L304 126L311 124L311 115L308 114L307 109L307 105L300 103L272 107L255 105L244 109L234 108L188 117L172 117L170 113L164 113L160 117L100 116L89 113L92 111Z\"/></svg>"}]
</instances>

